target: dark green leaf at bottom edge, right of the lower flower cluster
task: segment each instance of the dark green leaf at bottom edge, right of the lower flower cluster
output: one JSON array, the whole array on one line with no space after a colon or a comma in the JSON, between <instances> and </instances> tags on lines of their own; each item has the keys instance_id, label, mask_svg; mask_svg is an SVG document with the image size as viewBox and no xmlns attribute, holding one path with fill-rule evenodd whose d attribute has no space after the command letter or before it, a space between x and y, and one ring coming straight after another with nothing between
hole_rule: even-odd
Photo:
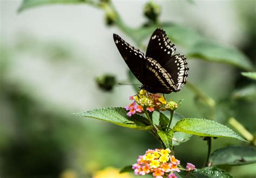
<instances>
[{"instance_id":1,"label":"dark green leaf at bottom edge, right of the lower flower cluster","mask_svg":"<svg viewBox=\"0 0 256 178\"><path fill-rule=\"evenodd\" d=\"M186 178L211 178L211 177L221 177L221 178L232 178L233 176L225 172L225 170L218 167L205 167L203 169L197 169L192 172L180 172L181 177Z\"/></svg>"}]
</instances>

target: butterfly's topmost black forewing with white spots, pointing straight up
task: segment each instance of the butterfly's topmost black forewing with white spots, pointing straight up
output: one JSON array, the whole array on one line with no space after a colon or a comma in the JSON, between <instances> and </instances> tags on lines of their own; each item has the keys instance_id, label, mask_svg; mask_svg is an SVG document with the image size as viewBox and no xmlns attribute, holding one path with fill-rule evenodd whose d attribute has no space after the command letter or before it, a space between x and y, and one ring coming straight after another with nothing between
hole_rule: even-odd
<instances>
[{"instance_id":1,"label":"butterfly's topmost black forewing with white spots, pointing straight up","mask_svg":"<svg viewBox=\"0 0 256 178\"><path fill-rule=\"evenodd\" d=\"M176 47L167 37L162 29L153 32L149 45L147 46L146 56L152 58L164 66L171 56L175 53Z\"/></svg>"}]
</instances>

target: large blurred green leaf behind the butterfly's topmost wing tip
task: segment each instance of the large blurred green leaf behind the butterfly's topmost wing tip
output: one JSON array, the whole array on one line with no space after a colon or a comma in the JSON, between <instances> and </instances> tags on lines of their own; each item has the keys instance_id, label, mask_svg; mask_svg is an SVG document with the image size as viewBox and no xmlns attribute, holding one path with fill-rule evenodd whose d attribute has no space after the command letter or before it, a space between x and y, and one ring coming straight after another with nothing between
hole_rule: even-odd
<instances>
[{"instance_id":1,"label":"large blurred green leaf behind the butterfly's topmost wing tip","mask_svg":"<svg viewBox=\"0 0 256 178\"><path fill-rule=\"evenodd\" d=\"M142 41L149 37L157 26L141 27L134 31L133 39ZM217 42L206 39L198 32L178 24L163 24L162 28L174 43L187 49L187 58L198 58L210 62L220 62L239 67L245 70L253 70L250 60L238 49L232 46L220 45Z\"/></svg>"}]
</instances>

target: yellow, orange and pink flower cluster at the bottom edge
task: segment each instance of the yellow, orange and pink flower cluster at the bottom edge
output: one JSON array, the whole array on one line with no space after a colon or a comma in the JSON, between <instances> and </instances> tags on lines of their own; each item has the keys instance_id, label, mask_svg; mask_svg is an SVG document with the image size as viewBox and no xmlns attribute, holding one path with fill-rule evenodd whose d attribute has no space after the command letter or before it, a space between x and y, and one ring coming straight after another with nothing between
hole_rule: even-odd
<instances>
[{"instance_id":1,"label":"yellow, orange and pink flower cluster at the bottom edge","mask_svg":"<svg viewBox=\"0 0 256 178\"><path fill-rule=\"evenodd\" d=\"M168 175L168 178L176 177L174 172L180 172L178 165L180 161L171 151L167 149L149 149L144 155L140 155L137 163L132 165L135 175L145 175L152 173L156 178L163 178Z\"/></svg>"}]
</instances>

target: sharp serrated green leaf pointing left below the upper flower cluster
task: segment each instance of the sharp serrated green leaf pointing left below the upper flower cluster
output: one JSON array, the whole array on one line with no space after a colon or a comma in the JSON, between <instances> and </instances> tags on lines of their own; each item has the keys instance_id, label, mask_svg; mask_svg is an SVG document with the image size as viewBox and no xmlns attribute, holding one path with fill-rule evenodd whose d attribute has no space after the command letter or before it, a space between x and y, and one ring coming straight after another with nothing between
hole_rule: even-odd
<instances>
[{"instance_id":1,"label":"sharp serrated green leaf pointing left below the upper flower cluster","mask_svg":"<svg viewBox=\"0 0 256 178\"><path fill-rule=\"evenodd\" d=\"M73 113L75 116L96 118L116 125L132 129L151 130L152 126L147 124L146 118L140 115L126 116L124 108L102 108L91 111Z\"/></svg>"}]
</instances>

